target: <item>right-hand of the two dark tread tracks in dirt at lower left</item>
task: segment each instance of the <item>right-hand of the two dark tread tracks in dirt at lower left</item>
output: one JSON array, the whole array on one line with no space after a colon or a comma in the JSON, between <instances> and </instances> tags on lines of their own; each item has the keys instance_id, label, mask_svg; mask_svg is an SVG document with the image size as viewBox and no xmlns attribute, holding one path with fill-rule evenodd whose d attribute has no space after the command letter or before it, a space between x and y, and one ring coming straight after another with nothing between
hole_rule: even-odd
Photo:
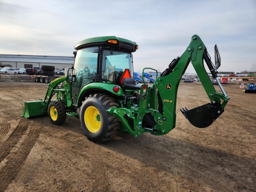
<instances>
[{"instance_id":1,"label":"right-hand of the two dark tread tracks in dirt at lower left","mask_svg":"<svg viewBox=\"0 0 256 192\"><path fill-rule=\"evenodd\" d=\"M30 153L32 147L34 146L40 130L37 128L32 128L29 133L24 138L18 151L10 153L7 158L5 166L0 170L0 191L4 191L12 179L18 174L19 169L25 162L28 154Z\"/></svg>"}]
</instances>

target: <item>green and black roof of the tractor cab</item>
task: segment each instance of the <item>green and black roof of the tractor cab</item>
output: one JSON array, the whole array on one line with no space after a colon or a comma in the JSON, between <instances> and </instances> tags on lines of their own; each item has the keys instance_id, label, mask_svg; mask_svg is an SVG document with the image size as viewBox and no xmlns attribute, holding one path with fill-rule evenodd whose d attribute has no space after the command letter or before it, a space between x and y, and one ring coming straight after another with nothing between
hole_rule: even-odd
<instances>
[{"instance_id":1,"label":"green and black roof of the tractor cab","mask_svg":"<svg viewBox=\"0 0 256 192\"><path fill-rule=\"evenodd\" d=\"M108 40L117 40L117 44L111 44L108 42ZM116 37L116 36L102 36L102 37L92 37L89 39L84 39L80 41L78 44L76 44L75 49L82 49L85 47L91 47L91 46L113 46L118 49L128 49L131 52L136 51L137 44L133 41L130 41L128 39Z\"/></svg>"}]
</instances>

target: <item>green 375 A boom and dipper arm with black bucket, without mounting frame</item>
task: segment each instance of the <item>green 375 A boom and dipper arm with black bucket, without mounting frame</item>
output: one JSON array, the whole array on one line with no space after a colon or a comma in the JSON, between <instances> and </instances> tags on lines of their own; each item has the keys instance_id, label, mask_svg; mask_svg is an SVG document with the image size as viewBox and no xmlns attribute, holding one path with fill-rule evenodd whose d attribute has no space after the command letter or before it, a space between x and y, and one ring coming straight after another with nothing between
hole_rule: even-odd
<instances>
[{"instance_id":1,"label":"green 375 A boom and dipper arm with black bucket, without mounting frame","mask_svg":"<svg viewBox=\"0 0 256 192\"><path fill-rule=\"evenodd\" d=\"M217 93L212 85L209 76L204 68L203 60L205 60L208 68L210 69L212 76L218 80L217 73L214 66L208 57L207 49L204 43L201 41L200 37L194 35L191 39L190 45L184 51L182 56L177 57L172 63L170 63L169 68L167 68L159 78L155 81L155 89L158 89L159 99L159 112L163 116L170 118L169 124L172 124L173 129L176 123L176 99L177 91L181 77L185 73L189 62L192 63L196 70L198 77L204 87L210 103L199 106L197 108L188 110L183 108L181 112L189 120L191 124L199 128L205 128L214 122L221 113L224 111L224 107L227 104L229 97L226 96L221 84L222 93ZM198 98L200 100L200 98ZM221 103L221 100L223 102ZM162 108L162 109L161 109Z\"/></svg>"}]
</instances>

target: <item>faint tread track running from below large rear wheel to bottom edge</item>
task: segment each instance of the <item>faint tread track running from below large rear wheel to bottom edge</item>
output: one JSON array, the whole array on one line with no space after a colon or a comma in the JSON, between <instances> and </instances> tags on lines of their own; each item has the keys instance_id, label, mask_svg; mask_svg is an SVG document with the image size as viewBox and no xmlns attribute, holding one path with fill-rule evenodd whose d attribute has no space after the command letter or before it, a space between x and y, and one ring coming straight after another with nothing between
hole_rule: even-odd
<instances>
[{"instance_id":1,"label":"faint tread track running from below large rear wheel to bottom edge","mask_svg":"<svg viewBox=\"0 0 256 192\"><path fill-rule=\"evenodd\" d=\"M94 168L92 173L94 174L93 178L95 178L92 191L110 191L108 187L106 164L102 161L102 150L99 149L99 144L93 143L91 146L89 153L92 154L91 165Z\"/></svg>"}]
</instances>

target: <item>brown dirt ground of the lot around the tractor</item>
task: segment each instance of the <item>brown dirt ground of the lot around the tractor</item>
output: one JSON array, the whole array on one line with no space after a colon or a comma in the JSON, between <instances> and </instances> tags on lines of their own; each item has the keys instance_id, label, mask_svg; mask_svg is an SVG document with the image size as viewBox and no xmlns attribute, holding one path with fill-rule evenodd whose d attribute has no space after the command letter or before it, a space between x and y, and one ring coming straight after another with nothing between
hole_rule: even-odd
<instances>
[{"instance_id":1,"label":"brown dirt ground of the lot around the tractor","mask_svg":"<svg viewBox=\"0 0 256 192\"><path fill-rule=\"evenodd\" d=\"M47 84L0 82L0 191L256 191L256 94L223 88L231 100L205 129L179 111L209 102L201 83L181 82L174 130L94 144L76 118L21 117Z\"/></svg>"}]
</instances>

